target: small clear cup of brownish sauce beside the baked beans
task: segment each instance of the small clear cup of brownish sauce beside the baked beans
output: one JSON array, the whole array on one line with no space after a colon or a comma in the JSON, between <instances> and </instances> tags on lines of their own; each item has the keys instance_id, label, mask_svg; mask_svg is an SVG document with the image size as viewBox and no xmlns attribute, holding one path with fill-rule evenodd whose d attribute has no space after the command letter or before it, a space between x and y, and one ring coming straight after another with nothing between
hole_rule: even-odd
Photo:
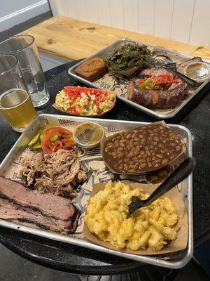
<instances>
[{"instance_id":1,"label":"small clear cup of brownish sauce beside the baked beans","mask_svg":"<svg viewBox=\"0 0 210 281\"><path fill-rule=\"evenodd\" d=\"M73 139L81 148L96 148L104 136L103 127L94 122L80 124L73 131Z\"/></svg>"}]
</instances>

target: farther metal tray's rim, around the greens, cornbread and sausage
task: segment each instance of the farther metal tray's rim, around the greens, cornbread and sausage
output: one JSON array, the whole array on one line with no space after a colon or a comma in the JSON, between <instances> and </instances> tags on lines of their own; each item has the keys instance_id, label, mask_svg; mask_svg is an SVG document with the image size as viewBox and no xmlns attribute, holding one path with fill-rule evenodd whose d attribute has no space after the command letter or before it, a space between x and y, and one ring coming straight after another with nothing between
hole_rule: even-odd
<instances>
[{"instance_id":1,"label":"farther metal tray's rim, around the greens, cornbread and sausage","mask_svg":"<svg viewBox=\"0 0 210 281\"><path fill-rule=\"evenodd\" d=\"M130 39L120 39L118 41L115 41L113 44L107 46L106 48L102 48L102 50L97 51L93 55L90 55L90 57L88 57L88 58L85 58L85 60L89 60L90 58L93 58L93 57L104 58L109 52L111 52L114 49L118 48L118 46L122 46L123 44L125 44L127 42L130 42L130 41L132 41L132 40L130 40ZM191 55L185 55L183 53L178 53L178 52L166 49L166 48L160 48L160 47L156 47L156 46L153 46L153 45L144 44L144 43L141 43L139 41L138 41L138 43L141 44L141 45L145 45L145 46L151 47L151 48L155 48L155 51L163 51L163 52L167 51L168 53L172 53L173 55L179 56L180 58L185 58L186 60L190 60L191 58L193 58L193 56L191 56ZM68 71L69 75L71 75L72 77L78 79L79 81L83 82L84 84L87 84L88 86L92 86L92 87L98 88L98 89L103 89L102 87L97 86L96 84L94 84L94 82L92 83L90 81L87 81L86 79L83 79L82 77L78 76L74 72L75 68L78 67L78 65L83 63L85 60L82 60L80 63L77 63L76 65L73 65L73 67L69 68L69 71ZM204 62L210 63L208 60L204 60ZM181 103L181 105L179 105L179 107L176 108L176 110L174 110L173 112L168 113L167 115L162 115L162 114L160 114L158 112L155 112L154 110L146 108L146 107L144 107L142 105L138 105L137 103L134 103L132 100L128 100L127 98L123 98L123 97L121 97L119 95L118 95L118 98L120 100L123 100L128 105L136 108L137 110L145 112L146 114L151 115L151 116L153 116L155 118L158 118L158 119L169 119L169 118L174 117L208 83L209 83L209 80L205 81L204 83L202 83L197 88L196 91L194 91L188 98L186 98L186 100L183 101L183 103Z\"/></svg>"}]
</instances>

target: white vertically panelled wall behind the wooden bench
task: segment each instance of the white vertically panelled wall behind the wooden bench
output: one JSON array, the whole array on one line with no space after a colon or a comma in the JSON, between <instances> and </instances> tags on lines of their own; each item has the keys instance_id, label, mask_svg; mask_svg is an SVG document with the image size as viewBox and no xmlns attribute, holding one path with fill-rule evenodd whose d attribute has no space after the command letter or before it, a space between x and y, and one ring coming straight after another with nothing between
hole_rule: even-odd
<instances>
[{"instance_id":1,"label":"white vertically panelled wall behind the wooden bench","mask_svg":"<svg viewBox=\"0 0 210 281\"><path fill-rule=\"evenodd\" d=\"M50 0L53 15L210 46L210 0Z\"/></svg>"}]
</instances>

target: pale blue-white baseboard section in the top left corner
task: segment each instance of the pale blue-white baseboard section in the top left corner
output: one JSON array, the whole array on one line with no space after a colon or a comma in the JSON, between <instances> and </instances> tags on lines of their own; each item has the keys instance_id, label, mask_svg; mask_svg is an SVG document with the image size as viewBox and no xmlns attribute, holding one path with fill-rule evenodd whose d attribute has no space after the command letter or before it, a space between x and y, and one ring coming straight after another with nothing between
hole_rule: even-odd
<instances>
[{"instance_id":1,"label":"pale blue-white baseboard section in the top left corner","mask_svg":"<svg viewBox=\"0 0 210 281\"><path fill-rule=\"evenodd\" d=\"M0 31L49 11L47 0L0 0Z\"/></svg>"}]
</instances>

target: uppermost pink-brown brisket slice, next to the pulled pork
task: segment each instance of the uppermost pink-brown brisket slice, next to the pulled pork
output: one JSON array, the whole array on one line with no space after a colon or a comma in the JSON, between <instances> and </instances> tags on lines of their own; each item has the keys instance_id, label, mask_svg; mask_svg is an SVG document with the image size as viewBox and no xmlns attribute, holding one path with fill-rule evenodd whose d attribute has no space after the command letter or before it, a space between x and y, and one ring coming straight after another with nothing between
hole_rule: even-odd
<instances>
[{"instance_id":1,"label":"uppermost pink-brown brisket slice, next to the pulled pork","mask_svg":"<svg viewBox=\"0 0 210 281\"><path fill-rule=\"evenodd\" d=\"M21 207L39 211L43 216L60 220L69 220L76 216L76 207L68 199L27 189L22 183L4 177L0 177L0 197Z\"/></svg>"}]
</instances>

